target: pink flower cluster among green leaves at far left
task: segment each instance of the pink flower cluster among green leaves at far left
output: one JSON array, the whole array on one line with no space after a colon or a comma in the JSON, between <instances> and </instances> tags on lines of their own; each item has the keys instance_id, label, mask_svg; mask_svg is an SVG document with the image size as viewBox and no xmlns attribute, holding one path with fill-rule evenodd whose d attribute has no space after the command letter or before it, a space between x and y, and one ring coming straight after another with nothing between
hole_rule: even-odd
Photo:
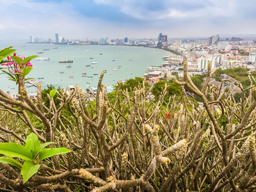
<instances>
[{"instance_id":1,"label":"pink flower cluster among green leaves at far left","mask_svg":"<svg viewBox=\"0 0 256 192\"><path fill-rule=\"evenodd\" d=\"M19 58L21 58L22 60L24 60L24 56L20 56L19 54L13 53L13 56L17 56ZM13 60L12 57L8 56L7 60L9 61L8 63L3 63L1 65L6 65L8 67L8 70L11 74L15 74L15 73L19 73L20 68L24 68L24 67L32 67L33 65L31 65L30 61L28 61L26 64L21 64L19 65L19 63L17 63L15 60Z\"/></svg>"}]
</instances>

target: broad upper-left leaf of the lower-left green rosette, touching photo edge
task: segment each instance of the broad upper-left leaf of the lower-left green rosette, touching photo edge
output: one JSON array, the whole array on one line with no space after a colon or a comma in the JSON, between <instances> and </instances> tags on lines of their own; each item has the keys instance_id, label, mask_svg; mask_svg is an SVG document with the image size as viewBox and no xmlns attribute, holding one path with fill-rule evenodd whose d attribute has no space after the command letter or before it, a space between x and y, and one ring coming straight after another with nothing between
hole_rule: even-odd
<instances>
[{"instance_id":1,"label":"broad upper-left leaf of the lower-left green rosette, touching photo edge","mask_svg":"<svg viewBox=\"0 0 256 192\"><path fill-rule=\"evenodd\" d=\"M20 157L25 161L31 161L33 159L28 148L17 143L0 143L0 154L9 157Z\"/></svg>"}]
</instances>

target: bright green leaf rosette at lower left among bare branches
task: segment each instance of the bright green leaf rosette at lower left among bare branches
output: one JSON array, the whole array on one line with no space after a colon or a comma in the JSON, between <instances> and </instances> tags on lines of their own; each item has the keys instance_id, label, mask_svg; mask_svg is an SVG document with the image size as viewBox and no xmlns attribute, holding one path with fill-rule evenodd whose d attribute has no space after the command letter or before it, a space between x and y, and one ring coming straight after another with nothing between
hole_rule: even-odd
<instances>
[{"instance_id":1,"label":"bright green leaf rosette at lower left among bare branches","mask_svg":"<svg viewBox=\"0 0 256 192\"><path fill-rule=\"evenodd\" d=\"M30 177L32 177L38 169L40 168L40 161L47 157L52 157L54 155L66 154L71 152L67 148L45 148L47 145L53 142L44 143L41 145L38 137L33 132L29 134L26 145L19 145L17 143L0 143L0 154L8 157L0 157L1 163L12 164L21 168L20 174L23 177L23 182L26 182ZM36 162L36 157L39 156L39 161ZM19 157L24 160L22 165L19 161L16 161L12 157Z\"/></svg>"}]
</instances>

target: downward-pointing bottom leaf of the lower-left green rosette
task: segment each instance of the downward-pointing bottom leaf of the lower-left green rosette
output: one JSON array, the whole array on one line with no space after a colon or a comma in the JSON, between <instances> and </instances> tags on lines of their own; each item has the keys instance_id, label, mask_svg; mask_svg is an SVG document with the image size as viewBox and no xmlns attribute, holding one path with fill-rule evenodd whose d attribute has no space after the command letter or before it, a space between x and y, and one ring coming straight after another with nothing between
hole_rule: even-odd
<instances>
[{"instance_id":1,"label":"downward-pointing bottom leaf of the lower-left green rosette","mask_svg":"<svg viewBox=\"0 0 256 192\"><path fill-rule=\"evenodd\" d=\"M27 182L30 177L35 175L39 168L40 164L33 164L32 161L25 161L20 171L20 175L23 177L23 183Z\"/></svg>"}]
</instances>

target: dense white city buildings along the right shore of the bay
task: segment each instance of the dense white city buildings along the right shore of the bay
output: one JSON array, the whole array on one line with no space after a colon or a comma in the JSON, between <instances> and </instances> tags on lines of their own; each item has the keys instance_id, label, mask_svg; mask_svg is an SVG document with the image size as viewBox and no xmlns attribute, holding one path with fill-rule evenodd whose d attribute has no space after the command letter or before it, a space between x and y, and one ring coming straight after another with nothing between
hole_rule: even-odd
<instances>
[{"instance_id":1,"label":"dense white city buildings along the right shore of the bay","mask_svg":"<svg viewBox=\"0 0 256 192\"><path fill-rule=\"evenodd\" d=\"M220 35L211 36L205 40L179 40L169 39L168 46L161 42L161 33L157 47L175 51L179 55L166 56L163 63L159 66L147 67L144 77L150 84L159 81L160 78L170 80L173 77L183 76L184 60L188 61L188 74L194 76L202 75L207 72L210 63L211 69L243 67L250 71L256 70L256 42L253 40L243 40L241 38L226 38L220 41ZM226 81L231 77L224 77ZM228 82L230 80L228 79ZM232 79L232 82L235 81ZM220 84L213 79L212 84ZM233 83L227 86L234 86ZM241 90L237 89L237 93Z\"/></svg>"}]
</instances>

